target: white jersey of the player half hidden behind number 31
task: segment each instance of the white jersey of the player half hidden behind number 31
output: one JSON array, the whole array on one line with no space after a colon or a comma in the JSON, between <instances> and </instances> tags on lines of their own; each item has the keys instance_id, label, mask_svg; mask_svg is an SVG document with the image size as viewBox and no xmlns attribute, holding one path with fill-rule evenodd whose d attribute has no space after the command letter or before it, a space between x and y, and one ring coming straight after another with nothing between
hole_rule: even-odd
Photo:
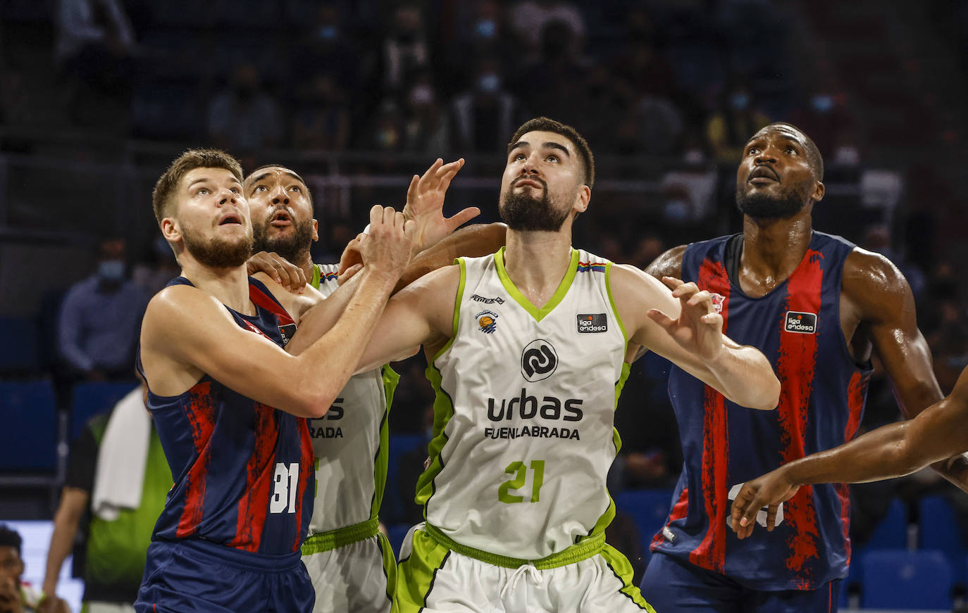
<instances>
[{"instance_id":1,"label":"white jersey of the player half hidden behind number 31","mask_svg":"<svg viewBox=\"0 0 968 613\"><path fill-rule=\"evenodd\" d=\"M329 296L338 266L316 266L318 290ZM398 379L388 366L353 375L326 415L309 421L316 456L310 535L377 516L386 483L387 400Z\"/></svg>"}]
</instances>

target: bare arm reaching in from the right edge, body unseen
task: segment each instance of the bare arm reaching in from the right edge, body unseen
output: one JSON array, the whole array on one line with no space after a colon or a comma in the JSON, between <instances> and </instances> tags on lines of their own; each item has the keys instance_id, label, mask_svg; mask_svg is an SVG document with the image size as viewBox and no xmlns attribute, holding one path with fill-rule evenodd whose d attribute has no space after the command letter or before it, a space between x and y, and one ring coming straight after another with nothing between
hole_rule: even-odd
<instances>
[{"instance_id":1,"label":"bare arm reaching in from the right edge, body unseen","mask_svg":"<svg viewBox=\"0 0 968 613\"><path fill-rule=\"evenodd\" d=\"M961 371L948 397L914 419L884 425L840 447L807 455L743 483L733 501L733 529L745 539L753 532L757 513L768 507L765 525L772 531L779 504L790 500L803 485L902 477L964 452L968 452L968 368Z\"/></svg>"}]
</instances>

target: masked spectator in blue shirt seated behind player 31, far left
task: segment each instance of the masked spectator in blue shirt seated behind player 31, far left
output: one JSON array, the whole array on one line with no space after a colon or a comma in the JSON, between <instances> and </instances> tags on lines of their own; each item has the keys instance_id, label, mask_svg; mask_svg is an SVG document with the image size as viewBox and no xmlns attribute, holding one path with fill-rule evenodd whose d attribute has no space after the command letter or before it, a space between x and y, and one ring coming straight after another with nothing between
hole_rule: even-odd
<instances>
[{"instance_id":1,"label":"masked spectator in blue shirt seated behind player 31, far left","mask_svg":"<svg viewBox=\"0 0 968 613\"><path fill-rule=\"evenodd\" d=\"M58 321L58 349L76 378L131 378L148 297L127 276L125 241L98 246L98 268L68 290Z\"/></svg>"}]
</instances>

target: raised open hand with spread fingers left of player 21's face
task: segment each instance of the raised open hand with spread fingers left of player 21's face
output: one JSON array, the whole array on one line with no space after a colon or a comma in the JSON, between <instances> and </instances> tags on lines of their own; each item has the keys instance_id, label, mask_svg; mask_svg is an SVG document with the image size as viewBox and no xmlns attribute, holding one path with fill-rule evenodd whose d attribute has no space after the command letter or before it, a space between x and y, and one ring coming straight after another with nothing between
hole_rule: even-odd
<instances>
[{"instance_id":1,"label":"raised open hand with spread fingers left of player 21's face","mask_svg":"<svg viewBox=\"0 0 968 613\"><path fill-rule=\"evenodd\" d=\"M450 163L438 159L422 177L413 175L407 190L404 217L414 221L414 252L437 245L462 224L481 214L477 207L464 209L452 218L443 217L443 197L457 172L464 167L464 158Z\"/></svg>"}]
</instances>

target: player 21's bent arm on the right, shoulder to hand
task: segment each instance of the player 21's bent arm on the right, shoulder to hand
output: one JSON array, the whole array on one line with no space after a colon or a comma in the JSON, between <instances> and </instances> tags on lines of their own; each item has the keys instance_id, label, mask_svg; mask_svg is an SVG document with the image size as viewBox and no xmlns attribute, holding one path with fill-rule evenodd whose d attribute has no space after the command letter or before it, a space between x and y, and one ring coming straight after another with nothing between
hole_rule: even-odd
<instances>
[{"instance_id":1,"label":"player 21's bent arm on the right, shoulder to hand","mask_svg":"<svg viewBox=\"0 0 968 613\"><path fill-rule=\"evenodd\" d=\"M776 407L780 383L770 362L758 349L722 334L722 316L712 307L709 292L677 278L660 282L632 266L612 267L612 292L630 341L737 404Z\"/></svg>"}]
</instances>

